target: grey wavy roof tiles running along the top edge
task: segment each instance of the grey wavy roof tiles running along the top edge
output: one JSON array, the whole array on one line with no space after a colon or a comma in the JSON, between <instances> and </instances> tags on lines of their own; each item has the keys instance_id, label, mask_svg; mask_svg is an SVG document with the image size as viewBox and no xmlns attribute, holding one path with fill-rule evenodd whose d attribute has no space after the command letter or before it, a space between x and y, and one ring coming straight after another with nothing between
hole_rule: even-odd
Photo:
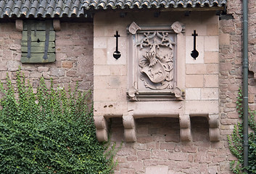
<instances>
[{"instance_id":1,"label":"grey wavy roof tiles running along the top edge","mask_svg":"<svg viewBox=\"0 0 256 174\"><path fill-rule=\"evenodd\" d=\"M84 10L222 7L227 0L1 0L2 17L80 17Z\"/></svg>"}]
</instances>

